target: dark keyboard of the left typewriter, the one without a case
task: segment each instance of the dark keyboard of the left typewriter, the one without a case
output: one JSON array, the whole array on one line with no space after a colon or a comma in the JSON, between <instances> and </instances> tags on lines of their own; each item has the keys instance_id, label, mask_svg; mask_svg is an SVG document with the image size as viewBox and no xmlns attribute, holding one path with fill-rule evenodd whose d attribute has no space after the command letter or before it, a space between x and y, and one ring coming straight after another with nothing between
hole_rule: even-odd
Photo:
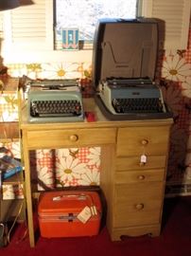
<instances>
[{"instance_id":1,"label":"dark keyboard of the left typewriter, the one without a case","mask_svg":"<svg viewBox=\"0 0 191 256\"><path fill-rule=\"evenodd\" d=\"M30 116L45 117L69 117L81 115L80 101L32 101L30 102Z\"/></svg>"}]
</instances>

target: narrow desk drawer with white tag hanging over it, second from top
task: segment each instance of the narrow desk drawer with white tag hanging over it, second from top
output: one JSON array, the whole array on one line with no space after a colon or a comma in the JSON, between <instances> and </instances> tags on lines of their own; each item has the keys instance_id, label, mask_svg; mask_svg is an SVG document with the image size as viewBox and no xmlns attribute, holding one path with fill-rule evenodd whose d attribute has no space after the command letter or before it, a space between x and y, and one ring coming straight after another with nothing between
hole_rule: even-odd
<instances>
[{"instance_id":1,"label":"narrow desk drawer with white tag hanging over it, second from top","mask_svg":"<svg viewBox=\"0 0 191 256\"><path fill-rule=\"evenodd\" d=\"M148 155L147 162L141 164L141 156L130 156L130 157L117 157L116 158L116 170L127 171L127 170L147 170L153 168L165 168L165 155Z\"/></svg>"}]
</instances>

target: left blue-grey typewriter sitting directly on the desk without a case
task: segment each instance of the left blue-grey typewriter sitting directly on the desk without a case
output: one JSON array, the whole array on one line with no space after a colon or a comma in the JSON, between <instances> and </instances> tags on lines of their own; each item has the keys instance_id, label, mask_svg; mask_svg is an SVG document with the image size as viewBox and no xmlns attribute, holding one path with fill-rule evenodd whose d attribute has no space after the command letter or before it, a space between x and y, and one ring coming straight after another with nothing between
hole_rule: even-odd
<instances>
[{"instance_id":1,"label":"left blue-grey typewriter sitting directly on the desk without a case","mask_svg":"<svg viewBox=\"0 0 191 256\"><path fill-rule=\"evenodd\" d=\"M82 95L77 80L28 81L29 122L68 122L84 119Z\"/></svg>"}]
</instances>

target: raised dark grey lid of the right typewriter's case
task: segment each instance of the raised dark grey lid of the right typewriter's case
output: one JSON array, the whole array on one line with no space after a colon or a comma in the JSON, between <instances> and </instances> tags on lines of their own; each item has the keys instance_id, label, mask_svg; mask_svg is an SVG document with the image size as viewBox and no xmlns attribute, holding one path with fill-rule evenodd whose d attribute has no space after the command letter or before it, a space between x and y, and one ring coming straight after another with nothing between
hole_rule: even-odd
<instances>
[{"instance_id":1,"label":"raised dark grey lid of the right typewriter's case","mask_svg":"<svg viewBox=\"0 0 191 256\"><path fill-rule=\"evenodd\" d=\"M93 51L93 83L111 78L154 80L158 49L156 20L101 19Z\"/></svg>"}]
</instances>

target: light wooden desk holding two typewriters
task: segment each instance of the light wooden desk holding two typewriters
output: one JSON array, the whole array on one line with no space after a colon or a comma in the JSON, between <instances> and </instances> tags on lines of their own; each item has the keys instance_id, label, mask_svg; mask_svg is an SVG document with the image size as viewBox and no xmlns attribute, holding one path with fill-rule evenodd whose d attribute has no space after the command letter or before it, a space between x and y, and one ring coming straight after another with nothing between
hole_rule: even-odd
<instances>
[{"instance_id":1,"label":"light wooden desk holding two typewriters","mask_svg":"<svg viewBox=\"0 0 191 256\"><path fill-rule=\"evenodd\" d=\"M85 111L96 122L28 123L21 121L26 172L26 207L30 246L35 246L29 151L70 147L101 147L100 187L107 204L112 240L121 235L159 235L165 192L165 167L172 119L110 121L93 99ZM141 155L147 162L141 163Z\"/></svg>"}]
</instances>

